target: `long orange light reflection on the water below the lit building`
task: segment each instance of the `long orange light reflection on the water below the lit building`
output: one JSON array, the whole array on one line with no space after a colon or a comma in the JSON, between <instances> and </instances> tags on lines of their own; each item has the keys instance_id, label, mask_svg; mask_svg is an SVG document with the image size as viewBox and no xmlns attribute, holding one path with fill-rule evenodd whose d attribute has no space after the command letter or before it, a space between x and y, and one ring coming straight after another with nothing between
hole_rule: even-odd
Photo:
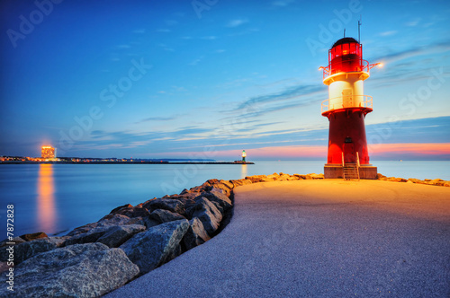
<instances>
[{"instance_id":1,"label":"long orange light reflection on the water below the lit building","mask_svg":"<svg viewBox=\"0 0 450 298\"><path fill-rule=\"evenodd\" d=\"M55 226L55 183L53 165L40 164L38 175L38 230L53 232Z\"/></svg>"}]
</instances>

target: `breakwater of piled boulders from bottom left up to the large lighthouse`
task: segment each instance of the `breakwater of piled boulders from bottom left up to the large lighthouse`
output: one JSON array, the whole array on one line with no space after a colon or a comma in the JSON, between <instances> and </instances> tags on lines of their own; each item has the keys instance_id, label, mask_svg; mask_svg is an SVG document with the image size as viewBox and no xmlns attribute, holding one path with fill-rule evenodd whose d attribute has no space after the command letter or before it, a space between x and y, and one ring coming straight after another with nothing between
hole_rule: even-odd
<instances>
[{"instance_id":1,"label":"breakwater of piled boulders from bottom left up to the large lighthouse","mask_svg":"<svg viewBox=\"0 0 450 298\"><path fill-rule=\"evenodd\" d=\"M66 236L44 232L0 244L1 297L96 297L214 237L232 216L233 188L268 181L323 179L274 173L241 180L207 180L178 195L114 208ZM12 253L12 254L11 254ZM8 259L14 259L14 278Z\"/></svg>"}]
</instances>

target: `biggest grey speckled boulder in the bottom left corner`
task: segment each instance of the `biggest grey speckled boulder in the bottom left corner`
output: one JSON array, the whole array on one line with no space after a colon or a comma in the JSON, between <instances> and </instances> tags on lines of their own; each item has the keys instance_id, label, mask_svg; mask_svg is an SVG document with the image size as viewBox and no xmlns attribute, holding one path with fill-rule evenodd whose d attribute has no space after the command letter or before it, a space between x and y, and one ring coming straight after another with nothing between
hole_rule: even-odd
<instances>
[{"instance_id":1,"label":"biggest grey speckled boulder in the bottom left corner","mask_svg":"<svg viewBox=\"0 0 450 298\"><path fill-rule=\"evenodd\" d=\"M72 245L41 253L14 268L14 292L2 297L96 297L139 274L123 250L102 243ZM4 284L4 282L2 283Z\"/></svg>"}]
</instances>

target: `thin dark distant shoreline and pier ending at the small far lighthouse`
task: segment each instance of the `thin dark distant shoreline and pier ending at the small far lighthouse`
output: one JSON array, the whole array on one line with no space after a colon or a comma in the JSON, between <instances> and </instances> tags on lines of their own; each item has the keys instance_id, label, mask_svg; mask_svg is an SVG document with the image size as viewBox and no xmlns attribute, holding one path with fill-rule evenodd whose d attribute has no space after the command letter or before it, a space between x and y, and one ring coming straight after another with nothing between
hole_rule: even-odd
<instances>
[{"instance_id":1,"label":"thin dark distant shoreline and pier ending at the small far lighthouse","mask_svg":"<svg viewBox=\"0 0 450 298\"><path fill-rule=\"evenodd\" d=\"M255 162L19 162L8 161L0 164L255 164Z\"/></svg>"}]
</instances>

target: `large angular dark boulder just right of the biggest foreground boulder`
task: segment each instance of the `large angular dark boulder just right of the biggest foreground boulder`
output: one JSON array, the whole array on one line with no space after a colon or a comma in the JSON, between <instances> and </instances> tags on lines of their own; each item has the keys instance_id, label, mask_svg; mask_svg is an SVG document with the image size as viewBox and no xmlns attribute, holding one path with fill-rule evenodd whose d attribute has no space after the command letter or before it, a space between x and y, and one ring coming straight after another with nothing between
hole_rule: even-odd
<instances>
[{"instance_id":1,"label":"large angular dark boulder just right of the biggest foreground boulder","mask_svg":"<svg viewBox=\"0 0 450 298\"><path fill-rule=\"evenodd\" d=\"M174 257L188 228L186 219L162 223L146 232L137 233L120 248L144 274Z\"/></svg>"}]
</instances>

